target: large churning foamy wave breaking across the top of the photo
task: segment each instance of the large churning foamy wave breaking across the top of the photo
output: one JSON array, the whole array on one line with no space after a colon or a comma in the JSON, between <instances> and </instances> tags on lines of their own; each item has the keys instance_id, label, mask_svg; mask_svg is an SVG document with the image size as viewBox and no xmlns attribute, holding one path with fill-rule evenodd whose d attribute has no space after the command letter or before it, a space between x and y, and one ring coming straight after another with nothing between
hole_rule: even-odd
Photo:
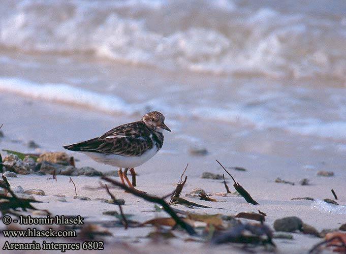
<instances>
[{"instance_id":1,"label":"large churning foamy wave breaking across the top of the photo","mask_svg":"<svg viewBox=\"0 0 346 254\"><path fill-rule=\"evenodd\" d=\"M321 10L323 6L321 7ZM0 46L214 74L346 76L345 17L232 1L3 1Z\"/></svg>"}]
</instances>

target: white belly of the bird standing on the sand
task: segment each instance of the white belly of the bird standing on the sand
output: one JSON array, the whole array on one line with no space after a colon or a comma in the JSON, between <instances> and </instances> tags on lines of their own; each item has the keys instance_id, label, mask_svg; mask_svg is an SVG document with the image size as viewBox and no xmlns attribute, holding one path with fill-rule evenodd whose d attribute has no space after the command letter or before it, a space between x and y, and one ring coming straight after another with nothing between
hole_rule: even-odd
<instances>
[{"instance_id":1,"label":"white belly of the bird standing on the sand","mask_svg":"<svg viewBox=\"0 0 346 254\"><path fill-rule=\"evenodd\" d=\"M158 152L158 148L153 146L150 150L143 153L141 156L123 156L117 154L103 154L98 152L82 152L88 155L92 160L111 165L118 168L135 168L146 161Z\"/></svg>"}]
</instances>

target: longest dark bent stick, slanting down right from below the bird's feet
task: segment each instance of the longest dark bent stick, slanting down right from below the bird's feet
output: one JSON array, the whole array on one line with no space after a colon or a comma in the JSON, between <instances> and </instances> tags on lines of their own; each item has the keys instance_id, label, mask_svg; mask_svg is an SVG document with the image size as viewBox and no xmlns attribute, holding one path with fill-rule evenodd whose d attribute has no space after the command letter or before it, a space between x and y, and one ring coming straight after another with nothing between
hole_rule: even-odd
<instances>
[{"instance_id":1,"label":"longest dark bent stick, slanting down right from below the bird's feet","mask_svg":"<svg viewBox=\"0 0 346 254\"><path fill-rule=\"evenodd\" d=\"M162 198L158 198L155 196L151 196L148 194L145 194L143 192L139 192L137 189L134 188L130 188L118 181L115 181L109 177L101 177L101 179L108 181L124 190L126 190L127 192L140 197L146 201L152 202L152 203L157 203L162 205L163 209L175 220L176 224L180 225L184 230L186 230L186 232L190 235L196 235L196 231L194 230L194 228L191 225L186 224L180 217L178 217L178 215L171 209L171 207L169 206L169 204L166 203L165 200L163 200Z\"/></svg>"}]
</instances>

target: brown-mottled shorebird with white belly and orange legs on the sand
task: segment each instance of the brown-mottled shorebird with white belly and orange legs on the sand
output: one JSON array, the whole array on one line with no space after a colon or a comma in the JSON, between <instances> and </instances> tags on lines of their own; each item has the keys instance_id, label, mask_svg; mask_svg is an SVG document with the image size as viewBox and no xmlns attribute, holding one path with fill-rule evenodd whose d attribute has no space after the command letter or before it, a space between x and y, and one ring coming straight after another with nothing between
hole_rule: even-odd
<instances>
[{"instance_id":1,"label":"brown-mottled shorebird with white belly and orange legs on the sand","mask_svg":"<svg viewBox=\"0 0 346 254\"><path fill-rule=\"evenodd\" d=\"M163 130L171 132L164 121L163 114L151 111L140 121L119 125L100 137L63 147L82 152L96 162L118 167L121 182L125 184L127 181L134 188L127 176L128 170L134 176L134 168L147 162L161 149Z\"/></svg>"}]
</instances>

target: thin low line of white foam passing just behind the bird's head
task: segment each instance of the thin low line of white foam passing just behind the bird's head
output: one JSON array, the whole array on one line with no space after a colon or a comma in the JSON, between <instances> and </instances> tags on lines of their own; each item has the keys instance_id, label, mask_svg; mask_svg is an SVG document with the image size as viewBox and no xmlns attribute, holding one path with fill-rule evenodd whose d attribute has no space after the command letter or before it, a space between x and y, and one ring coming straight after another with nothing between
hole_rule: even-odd
<instances>
[{"instance_id":1,"label":"thin low line of white foam passing just behind the bird's head","mask_svg":"<svg viewBox=\"0 0 346 254\"><path fill-rule=\"evenodd\" d=\"M18 78L0 78L0 91L3 92L49 102L83 106L110 114L143 114L149 110L159 110L170 115L172 119L197 118L238 124L255 130L274 128L298 135L346 140L344 116L340 114L340 117L334 119L324 117L325 115L330 117L332 113L338 114L338 111L344 112L344 108L339 104L326 102L330 108L323 111L325 113L321 115L320 108L300 101L294 92L268 91L258 95L257 89L250 87L243 89L249 93L248 96L251 99L243 98L232 104L209 102L209 106L205 106L204 102L179 103L173 97L172 100L154 97L142 102L129 103L114 94L99 93L69 84L40 84ZM251 96L251 92L257 94L257 97ZM310 93L310 91L305 92ZM337 90L333 93L336 92ZM343 92L340 92L340 96L341 94ZM319 104L321 104L319 107L325 107L322 102ZM304 110L297 111L297 107Z\"/></svg>"}]
</instances>

